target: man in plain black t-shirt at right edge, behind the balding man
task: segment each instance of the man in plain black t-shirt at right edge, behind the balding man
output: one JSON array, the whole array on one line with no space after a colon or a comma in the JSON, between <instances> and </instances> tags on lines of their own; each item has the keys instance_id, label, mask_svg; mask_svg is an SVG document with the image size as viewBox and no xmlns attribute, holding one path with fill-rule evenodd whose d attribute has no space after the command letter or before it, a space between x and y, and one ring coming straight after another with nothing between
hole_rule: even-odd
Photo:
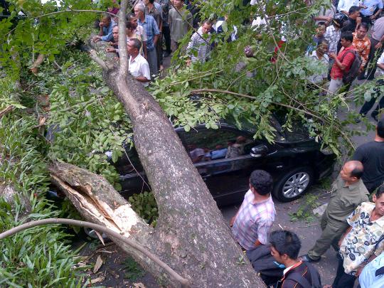
<instances>
[{"instance_id":1,"label":"man in plain black t-shirt at right edge, behind the balding man","mask_svg":"<svg viewBox=\"0 0 384 288\"><path fill-rule=\"evenodd\" d=\"M384 182L384 117L378 121L373 142L358 146L353 160L361 161L364 166L363 179L370 193Z\"/></svg>"}]
</instances>

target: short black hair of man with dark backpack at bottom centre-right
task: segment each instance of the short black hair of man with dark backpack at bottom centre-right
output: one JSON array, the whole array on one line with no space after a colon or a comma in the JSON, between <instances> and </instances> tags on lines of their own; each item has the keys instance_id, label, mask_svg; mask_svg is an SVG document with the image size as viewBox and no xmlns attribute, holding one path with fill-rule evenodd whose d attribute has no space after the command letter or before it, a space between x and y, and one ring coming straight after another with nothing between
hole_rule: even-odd
<instances>
[{"instance_id":1,"label":"short black hair of man with dark backpack at bottom centre-right","mask_svg":"<svg viewBox=\"0 0 384 288\"><path fill-rule=\"evenodd\" d=\"M270 243L279 255L287 254L289 258L296 260L299 256L302 242L299 237L291 231L277 230L270 234Z\"/></svg>"}]
</instances>

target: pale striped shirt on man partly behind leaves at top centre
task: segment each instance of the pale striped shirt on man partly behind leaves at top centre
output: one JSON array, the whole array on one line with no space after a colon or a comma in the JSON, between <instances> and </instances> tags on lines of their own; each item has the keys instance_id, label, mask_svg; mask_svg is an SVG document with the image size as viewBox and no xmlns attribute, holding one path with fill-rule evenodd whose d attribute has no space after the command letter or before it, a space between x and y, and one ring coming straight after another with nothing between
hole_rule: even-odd
<instances>
[{"instance_id":1,"label":"pale striped shirt on man partly behind leaves at top centre","mask_svg":"<svg viewBox=\"0 0 384 288\"><path fill-rule=\"evenodd\" d=\"M203 34L202 27L198 28L197 33L193 33L186 49L192 62L206 61L210 52L210 45L207 42L210 43L210 32Z\"/></svg>"}]
</instances>

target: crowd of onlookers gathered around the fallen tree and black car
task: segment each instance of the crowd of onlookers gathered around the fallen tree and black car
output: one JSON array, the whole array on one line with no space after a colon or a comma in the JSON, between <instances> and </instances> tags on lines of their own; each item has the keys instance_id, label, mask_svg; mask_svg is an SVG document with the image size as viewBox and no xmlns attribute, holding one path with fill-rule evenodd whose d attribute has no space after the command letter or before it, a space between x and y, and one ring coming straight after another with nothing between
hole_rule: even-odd
<instances>
[{"instance_id":1,"label":"crowd of onlookers gathered around the fallen tree and black car","mask_svg":"<svg viewBox=\"0 0 384 288\"><path fill-rule=\"evenodd\" d=\"M312 1L304 2L312 4ZM328 73L313 75L309 81L323 86L329 80L328 93L336 93L349 90L356 78L374 80L377 67L384 71L384 17L382 0L331 2L330 9L322 9L314 16L315 33L306 56L329 67ZM107 52L118 56L119 23L113 17L117 11L117 8L108 9L109 14L100 21L99 33L93 41L106 41L110 44ZM215 22L201 21L196 12L196 6L181 0L142 0L134 5L126 23L129 72L134 78L144 86L149 85L159 70L164 69L163 59L181 48L182 39L191 29L194 33L183 47L188 55L186 64L207 60L213 48L211 34L223 31L226 17ZM253 26L263 24L265 19L260 16L252 22ZM228 41L235 41L236 33L234 26ZM284 41L282 38L278 45ZM245 55L252 57L250 47L245 48ZM361 107L361 117L375 105L384 81L379 79L375 85L374 95ZM375 139L358 147L351 161L343 165L321 217L322 233L306 255L299 257L301 241L295 233L288 230L270 233L276 216L271 196L272 176L262 170L252 172L250 190L230 227L266 284L282 288L321 287L321 277L311 262L321 260L321 255L332 246L337 252L338 269L334 283L324 287L353 288L357 277L361 287L384 287L384 117L379 119L383 107L384 97L371 113L378 122ZM222 157L230 157L233 146L228 144L225 149L218 145L213 151L189 148L196 163L219 152Z\"/></svg>"}]
</instances>

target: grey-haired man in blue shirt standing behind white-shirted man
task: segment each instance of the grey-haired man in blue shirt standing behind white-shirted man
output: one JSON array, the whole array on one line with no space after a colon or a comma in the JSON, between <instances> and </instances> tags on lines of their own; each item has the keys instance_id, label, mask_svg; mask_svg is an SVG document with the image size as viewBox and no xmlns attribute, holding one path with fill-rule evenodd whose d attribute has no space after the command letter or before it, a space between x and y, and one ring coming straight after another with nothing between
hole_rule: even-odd
<instances>
[{"instance_id":1,"label":"grey-haired man in blue shirt standing behind white-shirted man","mask_svg":"<svg viewBox=\"0 0 384 288\"><path fill-rule=\"evenodd\" d=\"M159 67L157 66L156 43L159 39L159 27L157 27L154 17L144 14L145 6L142 3L134 6L134 14L137 16L137 23L143 26L146 33L146 60L149 63L149 70L151 70L151 77L159 74Z\"/></svg>"}]
</instances>

